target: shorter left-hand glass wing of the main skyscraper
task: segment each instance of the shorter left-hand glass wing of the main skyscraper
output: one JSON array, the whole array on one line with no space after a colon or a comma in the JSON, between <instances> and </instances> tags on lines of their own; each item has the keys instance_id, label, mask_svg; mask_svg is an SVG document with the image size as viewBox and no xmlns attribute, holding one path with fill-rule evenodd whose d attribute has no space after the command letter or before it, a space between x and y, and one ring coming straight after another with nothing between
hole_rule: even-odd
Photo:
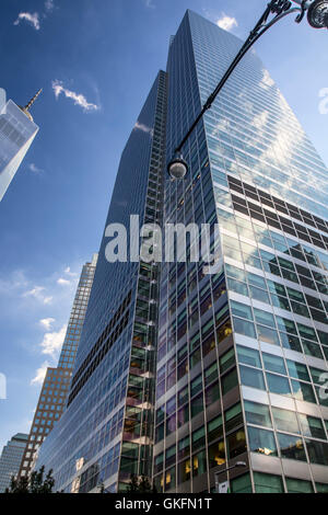
<instances>
[{"instance_id":1,"label":"shorter left-hand glass wing of the main skyscraper","mask_svg":"<svg viewBox=\"0 0 328 515\"><path fill-rule=\"evenodd\" d=\"M161 71L122 152L107 226L160 224L165 159L166 75ZM139 229L139 228L138 228ZM130 238L130 231L128 231ZM108 263L102 241L68 409L40 448L56 489L125 491L151 477L159 265Z\"/></svg>"}]
</instances>

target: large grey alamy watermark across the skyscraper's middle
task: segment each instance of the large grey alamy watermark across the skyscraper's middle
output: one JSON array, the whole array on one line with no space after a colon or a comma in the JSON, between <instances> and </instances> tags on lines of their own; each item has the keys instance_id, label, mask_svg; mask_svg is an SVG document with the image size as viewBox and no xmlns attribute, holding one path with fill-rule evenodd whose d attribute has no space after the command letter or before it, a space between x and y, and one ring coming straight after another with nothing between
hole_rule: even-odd
<instances>
[{"instance_id":1,"label":"large grey alamy watermark across the skyscraper's middle","mask_svg":"<svg viewBox=\"0 0 328 515\"><path fill-rule=\"evenodd\" d=\"M139 215L130 216L130 226L110 224L105 230L110 239L105 248L108 263L199 263L206 274L218 273L222 263L219 225L145 224Z\"/></svg>"}]
</instances>

